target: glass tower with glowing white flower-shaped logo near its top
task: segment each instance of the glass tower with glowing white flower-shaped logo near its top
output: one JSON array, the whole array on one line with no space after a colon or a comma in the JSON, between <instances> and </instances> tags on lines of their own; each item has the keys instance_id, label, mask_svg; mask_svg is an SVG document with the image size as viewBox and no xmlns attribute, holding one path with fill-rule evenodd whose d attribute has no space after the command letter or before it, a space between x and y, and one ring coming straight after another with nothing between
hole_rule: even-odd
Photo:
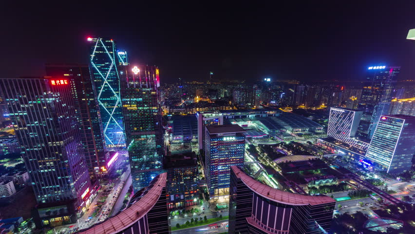
<instances>
[{"instance_id":1,"label":"glass tower with glowing white flower-shaped logo near its top","mask_svg":"<svg viewBox=\"0 0 415 234\"><path fill-rule=\"evenodd\" d=\"M134 192L148 186L163 169L159 71L150 66L123 66L120 90Z\"/></svg>"}]
</instances>

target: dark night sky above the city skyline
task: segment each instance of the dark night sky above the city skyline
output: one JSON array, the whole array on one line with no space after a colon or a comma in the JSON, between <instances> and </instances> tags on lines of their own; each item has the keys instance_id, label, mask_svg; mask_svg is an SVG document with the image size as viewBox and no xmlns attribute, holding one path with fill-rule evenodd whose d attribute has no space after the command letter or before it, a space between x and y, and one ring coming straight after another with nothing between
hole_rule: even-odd
<instances>
[{"instance_id":1,"label":"dark night sky above the city skyline","mask_svg":"<svg viewBox=\"0 0 415 234\"><path fill-rule=\"evenodd\" d=\"M158 66L162 82L204 80L209 71L216 80L360 79L369 65L415 74L415 41L406 40L413 0L105 2L3 5L0 76L43 76L45 62L87 63L86 37L94 35L116 40L132 64Z\"/></svg>"}]
</instances>

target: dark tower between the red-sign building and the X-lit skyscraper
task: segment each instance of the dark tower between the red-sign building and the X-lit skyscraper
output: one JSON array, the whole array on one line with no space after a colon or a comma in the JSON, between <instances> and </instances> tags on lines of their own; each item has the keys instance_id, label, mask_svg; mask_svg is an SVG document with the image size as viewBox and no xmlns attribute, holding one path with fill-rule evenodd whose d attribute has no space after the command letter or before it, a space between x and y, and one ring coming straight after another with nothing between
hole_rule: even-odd
<instances>
[{"instance_id":1,"label":"dark tower between the red-sign building and the X-lit skyscraper","mask_svg":"<svg viewBox=\"0 0 415 234\"><path fill-rule=\"evenodd\" d=\"M105 146L101 114L88 65L47 64L46 75L70 80L89 173L95 176L106 174L109 169L107 166L109 153Z\"/></svg>"}]
</instances>

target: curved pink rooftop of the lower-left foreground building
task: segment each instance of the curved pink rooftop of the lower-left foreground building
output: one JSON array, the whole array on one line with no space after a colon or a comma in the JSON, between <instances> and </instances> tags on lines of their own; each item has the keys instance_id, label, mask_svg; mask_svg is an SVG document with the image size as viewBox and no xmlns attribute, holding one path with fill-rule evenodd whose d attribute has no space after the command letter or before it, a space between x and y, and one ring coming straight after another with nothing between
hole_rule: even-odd
<instances>
[{"instance_id":1,"label":"curved pink rooftop of the lower-left foreground building","mask_svg":"<svg viewBox=\"0 0 415 234\"><path fill-rule=\"evenodd\" d=\"M162 173L155 177L147 187L147 193L140 200L132 204L127 209L117 215L95 224L87 229L77 232L77 234L116 234L129 228L146 215L162 194L166 187L167 173Z\"/></svg>"}]
</instances>

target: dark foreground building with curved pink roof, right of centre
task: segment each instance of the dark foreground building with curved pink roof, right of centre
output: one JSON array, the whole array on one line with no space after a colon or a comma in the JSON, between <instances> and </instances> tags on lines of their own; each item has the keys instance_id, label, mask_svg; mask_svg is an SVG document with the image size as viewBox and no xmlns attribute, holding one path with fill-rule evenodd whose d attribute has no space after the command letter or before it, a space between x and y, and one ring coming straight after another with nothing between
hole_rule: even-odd
<instances>
[{"instance_id":1,"label":"dark foreground building with curved pink roof, right of centre","mask_svg":"<svg viewBox=\"0 0 415 234\"><path fill-rule=\"evenodd\" d=\"M321 234L331 227L336 200L262 184L236 166L230 171L229 234Z\"/></svg>"}]
</instances>

